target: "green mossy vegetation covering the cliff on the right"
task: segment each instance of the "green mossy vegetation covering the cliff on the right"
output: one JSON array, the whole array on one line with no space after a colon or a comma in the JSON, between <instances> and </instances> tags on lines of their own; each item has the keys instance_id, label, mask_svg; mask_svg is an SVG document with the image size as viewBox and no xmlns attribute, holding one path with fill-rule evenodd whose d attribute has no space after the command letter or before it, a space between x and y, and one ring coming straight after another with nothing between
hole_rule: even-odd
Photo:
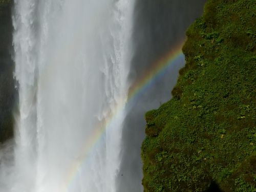
<instances>
[{"instance_id":1,"label":"green mossy vegetation covering the cliff on the right","mask_svg":"<svg viewBox=\"0 0 256 192\"><path fill-rule=\"evenodd\" d=\"M187 30L173 98L145 115L144 191L256 191L255 17L208 0Z\"/></svg>"}]
</instances>

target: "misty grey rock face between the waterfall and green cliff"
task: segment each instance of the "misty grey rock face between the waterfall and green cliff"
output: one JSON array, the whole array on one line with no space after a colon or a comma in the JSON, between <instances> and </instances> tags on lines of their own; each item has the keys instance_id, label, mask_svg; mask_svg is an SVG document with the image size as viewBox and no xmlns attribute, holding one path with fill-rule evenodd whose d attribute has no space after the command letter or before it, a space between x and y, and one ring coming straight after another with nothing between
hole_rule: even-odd
<instances>
[{"instance_id":1,"label":"misty grey rock face between the waterfall and green cliff","mask_svg":"<svg viewBox=\"0 0 256 192\"><path fill-rule=\"evenodd\" d=\"M136 82L153 63L185 38L187 27L203 12L205 0L137 0L134 7L134 56L130 79ZM175 63L150 88L128 103L124 122L123 151L118 191L143 191L140 146L144 139L144 114L170 99L178 70L184 61ZM121 176L123 175L123 176Z\"/></svg>"}]
</instances>

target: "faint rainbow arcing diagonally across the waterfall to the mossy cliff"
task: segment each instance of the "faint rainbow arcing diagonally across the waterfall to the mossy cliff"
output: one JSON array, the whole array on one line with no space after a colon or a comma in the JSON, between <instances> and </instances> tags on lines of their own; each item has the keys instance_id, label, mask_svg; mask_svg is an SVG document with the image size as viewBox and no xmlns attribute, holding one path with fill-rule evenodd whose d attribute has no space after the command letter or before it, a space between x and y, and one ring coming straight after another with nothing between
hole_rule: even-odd
<instances>
[{"instance_id":1,"label":"faint rainbow arcing diagonally across the waterfall to the mossy cliff","mask_svg":"<svg viewBox=\"0 0 256 192\"><path fill-rule=\"evenodd\" d=\"M67 177L65 178L64 186L60 188L60 191L67 191L68 187L71 185L72 181L75 180L76 175L82 165L86 162L87 157L90 152L96 147L97 143L103 137L105 131L110 127L112 122L115 121L116 118L120 115L120 113L124 110L127 103L132 102L133 99L140 96L141 93L145 91L151 84L157 79L160 78L161 75L166 71L166 69L172 66L175 62L184 59L184 55L182 54L182 46L183 42L180 42L175 46L174 49L167 52L163 57L157 60L152 68L147 71L138 81L132 84L129 94L126 98L121 98L117 102L118 105L114 110L114 113L105 118L104 122L99 123L94 132L89 137L89 140L85 141L81 148L81 154L79 159L76 159L72 165L70 166Z\"/></svg>"}]
</instances>

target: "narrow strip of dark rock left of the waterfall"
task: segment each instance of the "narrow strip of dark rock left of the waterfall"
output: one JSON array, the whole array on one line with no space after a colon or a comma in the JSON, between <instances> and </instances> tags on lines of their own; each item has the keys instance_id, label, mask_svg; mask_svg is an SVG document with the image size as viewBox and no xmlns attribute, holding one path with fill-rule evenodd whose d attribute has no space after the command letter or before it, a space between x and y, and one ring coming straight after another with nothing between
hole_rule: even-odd
<instances>
[{"instance_id":1,"label":"narrow strip of dark rock left of the waterfall","mask_svg":"<svg viewBox=\"0 0 256 192\"><path fill-rule=\"evenodd\" d=\"M0 142L13 136L14 62L12 60L12 3L0 3Z\"/></svg>"}]
</instances>

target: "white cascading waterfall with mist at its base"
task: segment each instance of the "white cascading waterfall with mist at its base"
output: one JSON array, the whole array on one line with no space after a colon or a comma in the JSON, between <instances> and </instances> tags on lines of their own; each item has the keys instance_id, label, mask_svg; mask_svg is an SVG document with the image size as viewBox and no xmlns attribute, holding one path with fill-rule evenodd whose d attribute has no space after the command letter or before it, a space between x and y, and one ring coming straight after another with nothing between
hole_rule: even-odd
<instances>
[{"instance_id":1,"label":"white cascading waterfall with mist at its base","mask_svg":"<svg viewBox=\"0 0 256 192\"><path fill-rule=\"evenodd\" d=\"M93 134L126 99L132 9L131 0L15 1L19 113L15 144L0 154L1 192L116 191L125 111Z\"/></svg>"}]
</instances>

